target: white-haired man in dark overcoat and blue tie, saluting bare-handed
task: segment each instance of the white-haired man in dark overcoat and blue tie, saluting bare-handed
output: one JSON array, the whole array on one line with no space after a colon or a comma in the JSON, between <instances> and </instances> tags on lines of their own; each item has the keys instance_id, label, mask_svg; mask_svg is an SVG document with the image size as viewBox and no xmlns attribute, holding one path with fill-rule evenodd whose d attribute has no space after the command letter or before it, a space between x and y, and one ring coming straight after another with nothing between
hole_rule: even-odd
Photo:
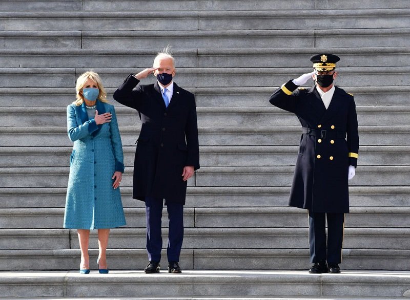
<instances>
[{"instance_id":1,"label":"white-haired man in dark overcoat and blue tie, saluting bare-handed","mask_svg":"<svg viewBox=\"0 0 410 300\"><path fill-rule=\"evenodd\" d=\"M157 78L154 84L139 84L150 74ZM163 204L169 216L168 272L181 273L178 262L187 180L199 169L195 98L173 82L174 76L174 58L165 49L154 59L153 68L130 74L114 93L116 101L138 111L142 122L135 152L133 198L146 205L146 273L158 273L160 268Z\"/></svg>"}]
</instances>

